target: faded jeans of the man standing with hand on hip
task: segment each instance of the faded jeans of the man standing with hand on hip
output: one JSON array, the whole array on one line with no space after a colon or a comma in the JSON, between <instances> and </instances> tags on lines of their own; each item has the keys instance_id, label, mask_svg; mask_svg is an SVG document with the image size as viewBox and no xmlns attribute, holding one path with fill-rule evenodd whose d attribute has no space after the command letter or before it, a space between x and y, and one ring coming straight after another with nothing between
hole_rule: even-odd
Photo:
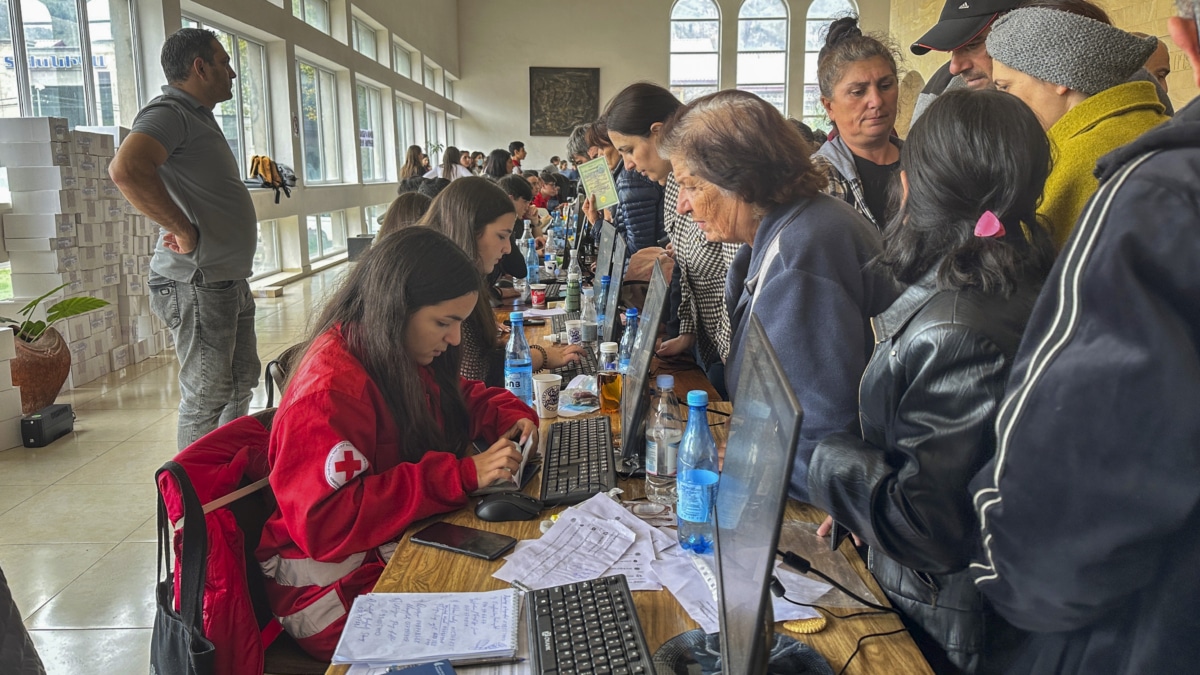
<instances>
[{"instance_id":1,"label":"faded jeans of the man standing with hand on hip","mask_svg":"<svg viewBox=\"0 0 1200 675\"><path fill-rule=\"evenodd\" d=\"M179 449L250 411L262 364L246 280L185 283L151 274L150 310L179 357Z\"/></svg>"}]
</instances>

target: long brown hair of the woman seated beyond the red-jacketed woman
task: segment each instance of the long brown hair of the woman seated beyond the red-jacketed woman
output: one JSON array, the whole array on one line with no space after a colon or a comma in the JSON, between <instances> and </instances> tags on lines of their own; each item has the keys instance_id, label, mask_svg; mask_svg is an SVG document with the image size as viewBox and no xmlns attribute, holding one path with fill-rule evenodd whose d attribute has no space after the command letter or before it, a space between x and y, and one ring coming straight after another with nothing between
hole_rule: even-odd
<instances>
[{"instance_id":1,"label":"long brown hair of the woman seated beyond the red-jacketed woman","mask_svg":"<svg viewBox=\"0 0 1200 675\"><path fill-rule=\"evenodd\" d=\"M467 253L472 263L479 259L479 245L475 243L488 223L505 215L516 215L512 199L494 183L486 178L473 175L460 178L434 197L430 210L418 225L428 226L445 234ZM472 319L482 335L484 345L496 345L496 317L487 300L487 280L474 268L475 283L479 286L479 303Z\"/></svg>"}]
</instances>

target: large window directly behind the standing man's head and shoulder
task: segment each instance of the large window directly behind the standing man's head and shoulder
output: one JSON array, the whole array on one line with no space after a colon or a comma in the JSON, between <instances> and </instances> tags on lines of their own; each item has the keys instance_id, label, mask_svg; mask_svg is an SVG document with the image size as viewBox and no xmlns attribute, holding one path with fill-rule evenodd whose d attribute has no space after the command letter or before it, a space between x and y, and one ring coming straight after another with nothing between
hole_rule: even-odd
<instances>
[{"instance_id":1,"label":"large window directly behind the standing man's head and shoulder","mask_svg":"<svg viewBox=\"0 0 1200 675\"><path fill-rule=\"evenodd\" d=\"M238 79L234 80L238 86L234 86L233 98L217 103L212 109L212 117L221 125L241 174L247 175L251 157L271 154L268 130L270 110L266 97L266 48L235 32L202 24L190 17L184 17L184 25L211 30L229 53L229 66L238 73Z\"/></svg>"}]
</instances>

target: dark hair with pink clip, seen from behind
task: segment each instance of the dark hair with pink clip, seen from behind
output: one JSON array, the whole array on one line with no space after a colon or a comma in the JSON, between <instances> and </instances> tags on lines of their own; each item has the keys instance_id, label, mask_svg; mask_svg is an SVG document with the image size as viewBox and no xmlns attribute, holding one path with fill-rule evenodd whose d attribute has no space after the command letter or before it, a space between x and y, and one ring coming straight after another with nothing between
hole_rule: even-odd
<instances>
[{"instance_id":1,"label":"dark hair with pink clip, seen from behind","mask_svg":"<svg viewBox=\"0 0 1200 675\"><path fill-rule=\"evenodd\" d=\"M908 197L883 233L877 263L914 283L937 268L941 288L1010 295L1042 282L1055 247L1037 207L1050 174L1050 142L1033 112L1002 91L947 91L917 120L900 171ZM984 211L1003 237L976 237Z\"/></svg>"}]
</instances>

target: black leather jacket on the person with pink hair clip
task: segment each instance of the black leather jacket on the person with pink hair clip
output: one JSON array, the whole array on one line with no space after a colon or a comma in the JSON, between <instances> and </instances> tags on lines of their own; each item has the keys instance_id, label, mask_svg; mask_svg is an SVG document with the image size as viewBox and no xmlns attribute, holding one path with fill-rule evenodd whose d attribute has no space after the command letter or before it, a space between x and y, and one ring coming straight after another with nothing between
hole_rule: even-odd
<instances>
[{"instance_id":1,"label":"black leather jacket on the person with pink hair clip","mask_svg":"<svg viewBox=\"0 0 1200 675\"><path fill-rule=\"evenodd\" d=\"M1016 639L966 572L979 546L967 483L995 452L1038 286L938 291L936 268L911 286L871 319L862 432L827 437L809 466L812 503L870 544L871 572L938 673L1002 671Z\"/></svg>"}]
</instances>

